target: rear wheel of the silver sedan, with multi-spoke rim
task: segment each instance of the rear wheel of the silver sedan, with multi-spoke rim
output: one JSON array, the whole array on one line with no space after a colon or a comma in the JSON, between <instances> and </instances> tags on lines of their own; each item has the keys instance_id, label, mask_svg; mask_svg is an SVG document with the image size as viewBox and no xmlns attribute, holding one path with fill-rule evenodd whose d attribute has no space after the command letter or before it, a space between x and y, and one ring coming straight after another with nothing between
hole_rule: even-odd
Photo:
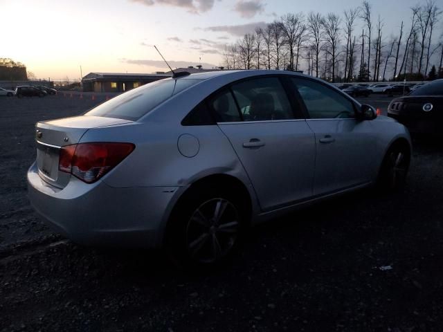
<instances>
[{"instance_id":1,"label":"rear wheel of the silver sedan, with multi-spoke rim","mask_svg":"<svg viewBox=\"0 0 443 332\"><path fill-rule=\"evenodd\" d=\"M181 199L165 235L168 255L179 268L211 268L228 261L241 243L246 214L227 190L201 186Z\"/></svg>"}]
</instances>

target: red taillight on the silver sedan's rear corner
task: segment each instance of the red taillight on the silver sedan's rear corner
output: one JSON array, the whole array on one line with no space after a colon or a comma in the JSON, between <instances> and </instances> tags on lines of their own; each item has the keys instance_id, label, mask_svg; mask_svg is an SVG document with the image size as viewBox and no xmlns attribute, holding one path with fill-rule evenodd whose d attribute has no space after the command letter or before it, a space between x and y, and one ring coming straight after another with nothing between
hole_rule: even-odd
<instances>
[{"instance_id":1,"label":"red taillight on the silver sedan's rear corner","mask_svg":"<svg viewBox=\"0 0 443 332\"><path fill-rule=\"evenodd\" d=\"M86 183L96 182L134 151L132 143L80 143L60 149L58 169Z\"/></svg>"}]
</instances>

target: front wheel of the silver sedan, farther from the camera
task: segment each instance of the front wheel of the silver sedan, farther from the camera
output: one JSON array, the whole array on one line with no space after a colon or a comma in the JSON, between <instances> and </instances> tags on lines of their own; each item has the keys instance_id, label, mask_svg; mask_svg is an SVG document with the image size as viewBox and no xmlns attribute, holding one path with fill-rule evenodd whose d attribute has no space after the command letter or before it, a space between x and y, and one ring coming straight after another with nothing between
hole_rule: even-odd
<instances>
[{"instance_id":1,"label":"front wheel of the silver sedan, farther from the camera","mask_svg":"<svg viewBox=\"0 0 443 332\"><path fill-rule=\"evenodd\" d=\"M395 192L404 187L410 164L410 150L395 144L383 158L377 185L381 190Z\"/></svg>"}]
</instances>

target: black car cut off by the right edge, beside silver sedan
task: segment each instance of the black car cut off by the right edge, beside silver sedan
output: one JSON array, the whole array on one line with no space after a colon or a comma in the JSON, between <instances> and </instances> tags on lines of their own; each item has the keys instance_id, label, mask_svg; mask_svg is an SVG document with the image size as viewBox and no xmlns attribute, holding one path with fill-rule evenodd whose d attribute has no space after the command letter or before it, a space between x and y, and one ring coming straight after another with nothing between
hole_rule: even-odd
<instances>
[{"instance_id":1,"label":"black car cut off by the right edge, beside silver sedan","mask_svg":"<svg viewBox=\"0 0 443 332\"><path fill-rule=\"evenodd\" d=\"M443 80L425 84L409 95L395 98L388 107L395 118L413 133L443 133Z\"/></svg>"}]
</instances>

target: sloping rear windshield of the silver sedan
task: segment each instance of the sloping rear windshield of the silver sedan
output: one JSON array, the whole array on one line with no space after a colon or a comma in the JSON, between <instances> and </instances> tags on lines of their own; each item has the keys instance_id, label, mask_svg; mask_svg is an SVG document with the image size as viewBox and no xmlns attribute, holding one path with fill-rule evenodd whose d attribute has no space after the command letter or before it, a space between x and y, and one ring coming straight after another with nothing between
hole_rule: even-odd
<instances>
[{"instance_id":1,"label":"sloping rear windshield of the silver sedan","mask_svg":"<svg viewBox=\"0 0 443 332\"><path fill-rule=\"evenodd\" d=\"M145 84L98 105L84 115L135 121L171 98L172 95L176 95L199 81L166 79Z\"/></svg>"}]
</instances>

